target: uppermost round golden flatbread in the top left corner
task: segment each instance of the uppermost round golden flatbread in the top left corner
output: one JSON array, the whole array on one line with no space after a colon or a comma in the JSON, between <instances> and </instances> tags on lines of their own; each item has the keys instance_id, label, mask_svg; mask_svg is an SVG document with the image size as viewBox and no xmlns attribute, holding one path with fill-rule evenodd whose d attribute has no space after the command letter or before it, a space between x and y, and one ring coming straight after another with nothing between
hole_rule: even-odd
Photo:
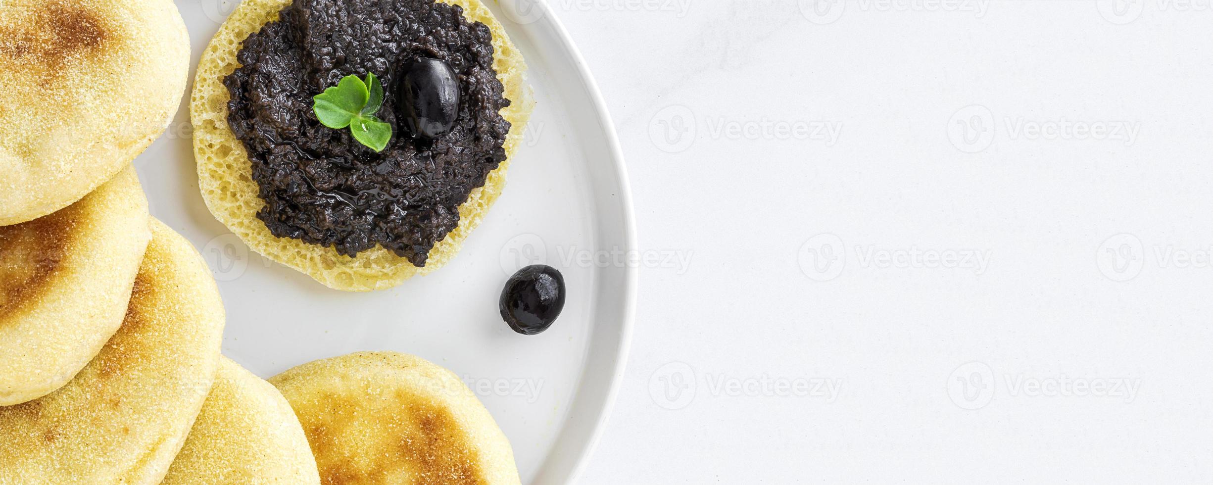
<instances>
[{"instance_id":1,"label":"uppermost round golden flatbread in the top left corner","mask_svg":"<svg viewBox=\"0 0 1213 485\"><path fill-rule=\"evenodd\" d=\"M0 226L130 165L172 121L188 74L170 0L0 1Z\"/></svg>"}]
</instances>

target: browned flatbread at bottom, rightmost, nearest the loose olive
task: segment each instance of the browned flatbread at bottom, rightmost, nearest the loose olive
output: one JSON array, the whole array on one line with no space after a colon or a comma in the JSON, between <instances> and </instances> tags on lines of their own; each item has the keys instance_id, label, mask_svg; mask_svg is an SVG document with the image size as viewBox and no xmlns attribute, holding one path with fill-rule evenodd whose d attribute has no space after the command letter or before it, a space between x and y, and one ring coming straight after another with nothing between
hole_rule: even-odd
<instances>
[{"instance_id":1,"label":"browned flatbread at bottom, rightmost, nearest the loose olive","mask_svg":"<svg viewBox=\"0 0 1213 485\"><path fill-rule=\"evenodd\" d=\"M318 360L269 382L303 424L325 484L517 485L509 440L451 371L368 352Z\"/></svg>"}]
</instances>

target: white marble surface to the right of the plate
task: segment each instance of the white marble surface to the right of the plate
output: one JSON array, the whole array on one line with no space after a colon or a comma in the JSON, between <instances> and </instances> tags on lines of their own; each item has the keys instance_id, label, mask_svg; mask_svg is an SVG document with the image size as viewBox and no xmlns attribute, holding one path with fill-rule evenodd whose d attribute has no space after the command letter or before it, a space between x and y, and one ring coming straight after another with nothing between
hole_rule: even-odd
<instances>
[{"instance_id":1,"label":"white marble surface to the right of the plate","mask_svg":"<svg viewBox=\"0 0 1213 485\"><path fill-rule=\"evenodd\" d=\"M662 256L581 483L1213 480L1208 1L547 1Z\"/></svg>"}]
</instances>

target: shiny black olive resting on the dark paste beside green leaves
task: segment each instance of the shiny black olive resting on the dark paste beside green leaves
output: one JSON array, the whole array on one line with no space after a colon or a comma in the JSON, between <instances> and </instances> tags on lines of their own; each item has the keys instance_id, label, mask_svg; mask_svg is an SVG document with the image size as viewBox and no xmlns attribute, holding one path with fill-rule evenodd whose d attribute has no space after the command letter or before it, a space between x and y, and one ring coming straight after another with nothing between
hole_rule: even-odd
<instances>
[{"instance_id":1,"label":"shiny black olive resting on the dark paste beside green leaves","mask_svg":"<svg viewBox=\"0 0 1213 485\"><path fill-rule=\"evenodd\" d=\"M397 115L414 138L439 138L459 119L459 76L445 61L408 61L397 82Z\"/></svg>"}]
</instances>

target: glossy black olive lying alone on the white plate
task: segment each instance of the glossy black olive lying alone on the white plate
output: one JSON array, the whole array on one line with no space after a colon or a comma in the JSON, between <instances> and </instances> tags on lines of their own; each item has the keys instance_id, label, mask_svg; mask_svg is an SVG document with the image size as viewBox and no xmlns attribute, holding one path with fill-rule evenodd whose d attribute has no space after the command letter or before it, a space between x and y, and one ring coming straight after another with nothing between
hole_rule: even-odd
<instances>
[{"instance_id":1,"label":"glossy black olive lying alone on the white plate","mask_svg":"<svg viewBox=\"0 0 1213 485\"><path fill-rule=\"evenodd\" d=\"M522 335L541 333L564 309L564 276L536 264L514 273L501 292L501 318Z\"/></svg>"}]
</instances>

